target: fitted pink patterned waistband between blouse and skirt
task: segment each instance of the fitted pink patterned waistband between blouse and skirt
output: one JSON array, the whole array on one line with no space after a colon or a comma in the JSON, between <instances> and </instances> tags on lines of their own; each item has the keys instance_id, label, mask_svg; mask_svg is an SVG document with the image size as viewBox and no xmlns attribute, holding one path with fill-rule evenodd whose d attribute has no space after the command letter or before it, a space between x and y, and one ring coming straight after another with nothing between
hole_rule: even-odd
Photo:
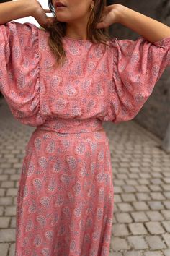
<instances>
[{"instance_id":1,"label":"fitted pink patterned waistband between blouse and skirt","mask_svg":"<svg viewBox=\"0 0 170 256\"><path fill-rule=\"evenodd\" d=\"M104 131L99 119L48 119L38 129L61 133L82 133Z\"/></svg>"}]
</instances>

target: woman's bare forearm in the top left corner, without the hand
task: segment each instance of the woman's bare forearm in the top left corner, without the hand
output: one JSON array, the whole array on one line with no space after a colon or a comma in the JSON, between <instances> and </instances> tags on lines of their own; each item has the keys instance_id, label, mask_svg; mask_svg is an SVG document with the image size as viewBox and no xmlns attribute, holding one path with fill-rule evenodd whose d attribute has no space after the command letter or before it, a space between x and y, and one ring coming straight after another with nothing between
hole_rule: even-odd
<instances>
[{"instance_id":1,"label":"woman's bare forearm in the top left corner, without the hand","mask_svg":"<svg viewBox=\"0 0 170 256\"><path fill-rule=\"evenodd\" d=\"M30 16L33 11L30 1L17 0L0 4L0 24Z\"/></svg>"}]
</instances>

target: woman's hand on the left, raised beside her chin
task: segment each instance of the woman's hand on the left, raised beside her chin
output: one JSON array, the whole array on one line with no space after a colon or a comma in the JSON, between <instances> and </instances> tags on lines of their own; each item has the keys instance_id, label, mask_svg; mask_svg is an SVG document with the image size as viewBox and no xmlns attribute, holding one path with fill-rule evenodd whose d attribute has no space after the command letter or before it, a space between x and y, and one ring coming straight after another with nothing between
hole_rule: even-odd
<instances>
[{"instance_id":1,"label":"woman's hand on the left, raised beside her chin","mask_svg":"<svg viewBox=\"0 0 170 256\"><path fill-rule=\"evenodd\" d=\"M32 17L37 20L41 27L48 27L48 25L52 25L55 17L48 17L45 13L51 13L50 9L43 9L39 1L31 0L34 3L34 10L32 11Z\"/></svg>"}]
</instances>

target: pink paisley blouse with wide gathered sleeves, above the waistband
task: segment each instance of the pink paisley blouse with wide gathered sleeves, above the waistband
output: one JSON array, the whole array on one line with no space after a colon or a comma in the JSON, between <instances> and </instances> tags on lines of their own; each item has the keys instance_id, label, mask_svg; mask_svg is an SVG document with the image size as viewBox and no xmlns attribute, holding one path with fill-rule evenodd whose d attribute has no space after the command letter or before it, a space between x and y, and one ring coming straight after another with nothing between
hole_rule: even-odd
<instances>
[{"instance_id":1,"label":"pink paisley blouse with wide gathered sleeves, above the waistband","mask_svg":"<svg viewBox=\"0 0 170 256\"><path fill-rule=\"evenodd\" d=\"M14 117L30 126L49 118L133 119L170 65L170 37L112 38L109 46L65 37L68 59L55 69L48 36L29 22L0 25L0 90Z\"/></svg>"}]
</instances>

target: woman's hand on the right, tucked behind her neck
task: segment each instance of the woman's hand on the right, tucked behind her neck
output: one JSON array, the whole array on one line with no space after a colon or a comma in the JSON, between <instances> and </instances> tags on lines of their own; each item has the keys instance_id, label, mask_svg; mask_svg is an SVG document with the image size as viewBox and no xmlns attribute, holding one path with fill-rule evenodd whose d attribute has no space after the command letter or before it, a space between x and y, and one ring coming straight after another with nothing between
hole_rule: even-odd
<instances>
[{"instance_id":1,"label":"woman's hand on the right, tucked behind her neck","mask_svg":"<svg viewBox=\"0 0 170 256\"><path fill-rule=\"evenodd\" d=\"M119 13L121 4L112 4L108 7L104 7L101 22L97 23L97 28L106 28L113 23L119 22Z\"/></svg>"}]
</instances>

